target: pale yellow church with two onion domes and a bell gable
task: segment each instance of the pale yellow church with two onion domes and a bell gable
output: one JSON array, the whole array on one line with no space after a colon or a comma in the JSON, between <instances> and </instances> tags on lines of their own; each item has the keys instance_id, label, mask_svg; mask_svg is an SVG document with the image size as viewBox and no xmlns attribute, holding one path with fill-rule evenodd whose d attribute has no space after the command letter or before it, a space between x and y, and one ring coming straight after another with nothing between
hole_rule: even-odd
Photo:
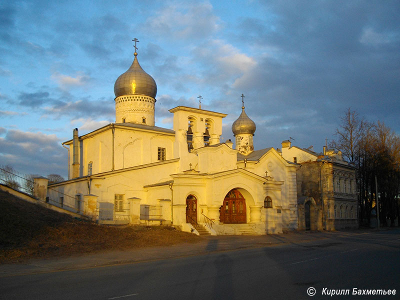
<instances>
[{"instance_id":1,"label":"pale yellow church with two onion domes and a bell gable","mask_svg":"<svg viewBox=\"0 0 400 300\"><path fill-rule=\"evenodd\" d=\"M296 170L272 147L253 148L254 122L232 124L236 149L220 141L224 113L177 106L173 129L154 124L154 79L137 53L114 85L115 123L63 142L68 180L50 189L72 195L98 221L170 224L212 234L272 233L297 228ZM49 201L56 199L49 193ZM61 196L59 196L61 198Z\"/></svg>"}]
</instances>

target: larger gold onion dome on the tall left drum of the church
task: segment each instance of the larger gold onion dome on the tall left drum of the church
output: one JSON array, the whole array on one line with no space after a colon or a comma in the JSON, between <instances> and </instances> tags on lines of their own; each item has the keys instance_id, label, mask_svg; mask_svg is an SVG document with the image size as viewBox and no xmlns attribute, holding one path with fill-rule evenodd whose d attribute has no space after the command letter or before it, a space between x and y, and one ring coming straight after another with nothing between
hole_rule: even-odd
<instances>
[{"instance_id":1,"label":"larger gold onion dome on the tall left drum of the church","mask_svg":"<svg viewBox=\"0 0 400 300\"><path fill-rule=\"evenodd\" d=\"M115 97L140 94L155 98L157 84L155 84L154 78L141 68L136 52L134 52L132 65L116 79L114 93Z\"/></svg>"}]
</instances>

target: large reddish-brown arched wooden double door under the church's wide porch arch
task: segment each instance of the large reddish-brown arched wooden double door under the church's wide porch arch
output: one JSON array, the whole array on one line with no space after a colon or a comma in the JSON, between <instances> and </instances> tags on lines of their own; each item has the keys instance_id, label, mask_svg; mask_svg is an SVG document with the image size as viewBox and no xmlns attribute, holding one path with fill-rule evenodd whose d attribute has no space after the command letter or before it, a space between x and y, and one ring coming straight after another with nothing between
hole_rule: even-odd
<instances>
[{"instance_id":1,"label":"large reddish-brown arched wooden double door under the church's wide porch arch","mask_svg":"<svg viewBox=\"0 0 400 300\"><path fill-rule=\"evenodd\" d=\"M231 189L223 199L219 209L222 223L235 224L246 222L246 200L237 189Z\"/></svg>"}]
</instances>

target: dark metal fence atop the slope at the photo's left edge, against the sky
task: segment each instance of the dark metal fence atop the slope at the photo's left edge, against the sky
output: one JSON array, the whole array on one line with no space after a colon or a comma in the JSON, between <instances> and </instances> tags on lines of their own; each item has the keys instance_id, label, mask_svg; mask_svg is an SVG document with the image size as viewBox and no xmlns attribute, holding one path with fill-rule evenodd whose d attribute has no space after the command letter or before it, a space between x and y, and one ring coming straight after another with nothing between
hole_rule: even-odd
<instances>
[{"instance_id":1,"label":"dark metal fence atop the slope at the photo's left edge, against the sky","mask_svg":"<svg viewBox=\"0 0 400 300\"><path fill-rule=\"evenodd\" d=\"M9 165L0 165L0 183L28 194L33 194L33 176L18 172Z\"/></svg>"}]
</instances>

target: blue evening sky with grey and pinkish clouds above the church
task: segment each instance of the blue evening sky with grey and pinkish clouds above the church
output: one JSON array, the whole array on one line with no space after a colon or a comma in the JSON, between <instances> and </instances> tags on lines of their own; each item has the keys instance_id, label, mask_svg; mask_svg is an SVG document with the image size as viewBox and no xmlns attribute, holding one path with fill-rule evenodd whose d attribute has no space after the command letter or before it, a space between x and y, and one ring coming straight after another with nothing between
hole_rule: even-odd
<instances>
[{"instance_id":1,"label":"blue evening sky with grey and pinkish clouds above the church","mask_svg":"<svg viewBox=\"0 0 400 300\"><path fill-rule=\"evenodd\" d=\"M67 177L63 141L115 121L113 86L133 61L168 109L255 122L255 149L322 151L347 108L400 133L398 0L10 1L0 3L0 164Z\"/></svg>"}]
</instances>

